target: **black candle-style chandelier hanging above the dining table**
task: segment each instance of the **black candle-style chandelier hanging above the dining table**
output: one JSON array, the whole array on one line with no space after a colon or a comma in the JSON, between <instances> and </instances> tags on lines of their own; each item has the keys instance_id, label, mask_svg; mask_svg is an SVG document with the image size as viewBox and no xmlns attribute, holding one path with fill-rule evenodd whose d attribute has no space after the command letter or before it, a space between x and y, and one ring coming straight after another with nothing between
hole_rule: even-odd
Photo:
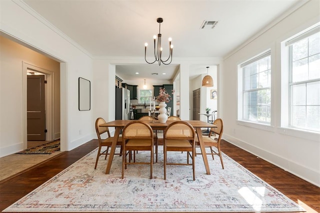
<instances>
[{"instance_id":1,"label":"black candle-style chandelier hanging above the dining table","mask_svg":"<svg viewBox=\"0 0 320 213\"><path fill-rule=\"evenodd\" d=\"M173 48L173 45L171 44L171 38L169 37L169 56L166 60L162 60L162 47L161 47L161 33L160 33L160 24L162 23L163 19L162 18L157 18L156 19L156 22L159 23L159 33L158 33L158 36L157 36L157 44L155 46L155 39L156 39L156 36L153 35L153 44L154 44L154 61L153 62L148 62L146 60L146 47L148 46L148 43L144 43L144 60L147 62L147 63L154 63L155 61L158 61L158 64L161 65L161 63L167 65L169 63L171 63L172 61L172 48ZM168 61L170 59L170 61ZM168 61L168 62L167 62Z\"/></svg>"}]
</instances>

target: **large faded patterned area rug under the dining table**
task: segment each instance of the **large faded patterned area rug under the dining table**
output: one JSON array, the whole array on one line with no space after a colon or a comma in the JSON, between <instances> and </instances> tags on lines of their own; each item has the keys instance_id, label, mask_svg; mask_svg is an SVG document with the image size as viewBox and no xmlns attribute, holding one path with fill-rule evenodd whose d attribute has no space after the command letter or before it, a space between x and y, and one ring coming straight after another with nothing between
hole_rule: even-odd
<instances>
[{"instance_id":1,"label":"large faded patterned area rug under the dining table","mask_svg":"<svg viewBox=\"0 0 320 213\"><path fill-rule=\"evenodd\" d=\"M205 174L201 155L192 167L167 165L163 179L163 154L149 165L128 165L121 179L121 157L115 155L109 174L107 160L100 157L94 169L94 150L41 186L22 197L4 212L248 212L303 211L277 189L223 154L220 160L208 157L211 174ZM116 150L118 151L118 150ZM169 152L168 161L184 161L186 153ZM149 160L149 153L139 151L137 161Z\"/></svg>"}]
</instances>

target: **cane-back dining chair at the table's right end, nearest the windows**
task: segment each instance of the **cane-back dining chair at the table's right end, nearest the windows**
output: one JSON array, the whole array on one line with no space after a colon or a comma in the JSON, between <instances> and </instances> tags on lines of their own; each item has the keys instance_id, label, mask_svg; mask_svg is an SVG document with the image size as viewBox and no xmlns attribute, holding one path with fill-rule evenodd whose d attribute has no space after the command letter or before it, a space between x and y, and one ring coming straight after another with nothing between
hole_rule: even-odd
<instances>
[{"instance_id":1,"label":"cane-back dining chair at the table's right end, nearest the windows","mask_svg":"<svg viewBox=\"0 0 320 213\"><path fill-rule=\"evenodd\" d=\"M220 157L222 169L224 169L222 155L221 155L221 148L220 148L221 136L223 133L223 121L221 118L217 118L216 120L214 120L213 124L216 125L217 127L211 127L209 135L202 136L204 147L210 148L210 152L206 154L212 155L212 159L214 159L214 155L218 155ZM199 139L197 137L195 138L195 146L196 147L200 146ZM216 147L217 151L215 151L212 147ZM196 153L196 154L200 154L200 153Z\"/></svg>"}]
</instances>

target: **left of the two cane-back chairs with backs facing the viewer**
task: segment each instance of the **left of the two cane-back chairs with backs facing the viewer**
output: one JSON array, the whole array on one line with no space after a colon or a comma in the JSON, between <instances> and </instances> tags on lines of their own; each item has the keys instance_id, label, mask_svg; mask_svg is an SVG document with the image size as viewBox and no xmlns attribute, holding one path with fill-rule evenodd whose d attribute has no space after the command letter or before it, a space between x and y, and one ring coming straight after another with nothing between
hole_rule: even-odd
<instances>
[{"instance_id":1,"label":"left of the two cane-back chairs with backs facing the viewer","mask_svg":"<svg viewBox=\"0 0 320 213\"><path fill-rule=\"evenodd\" d=\"M131 151L150 151L149 162L126 161L126 156ZM133 120L127 123L122 130L122 175L127 164L150 164L150 179L152 178L153 164L153 131L149 124L143 120Z\"/></svg>"}]
</instances>

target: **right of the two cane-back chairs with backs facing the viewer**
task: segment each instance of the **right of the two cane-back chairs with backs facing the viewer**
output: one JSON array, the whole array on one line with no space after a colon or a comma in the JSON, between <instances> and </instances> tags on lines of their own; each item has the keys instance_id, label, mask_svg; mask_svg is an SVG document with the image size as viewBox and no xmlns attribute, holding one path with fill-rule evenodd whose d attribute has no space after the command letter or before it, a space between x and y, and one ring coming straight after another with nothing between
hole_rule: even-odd
<instances>
[{"instance_id":1,"label":"right of the two cane-back chairs with backs facing the viewer","mask_svg":"<svg viewBox=\"0 0 320 213\"><path fill-rule=\"evenodd\" d=\"M177 120L170 123L164 130L163 137L163 166L164 179L166 179L166 165L192 165L193 180L195 180L194 146L195 131L194 128L187 122ZM186 151L187 162L167 162L168 151ZM191 156L192 163L189 163L189 156Z\"/></svg>"}]
</instances>

